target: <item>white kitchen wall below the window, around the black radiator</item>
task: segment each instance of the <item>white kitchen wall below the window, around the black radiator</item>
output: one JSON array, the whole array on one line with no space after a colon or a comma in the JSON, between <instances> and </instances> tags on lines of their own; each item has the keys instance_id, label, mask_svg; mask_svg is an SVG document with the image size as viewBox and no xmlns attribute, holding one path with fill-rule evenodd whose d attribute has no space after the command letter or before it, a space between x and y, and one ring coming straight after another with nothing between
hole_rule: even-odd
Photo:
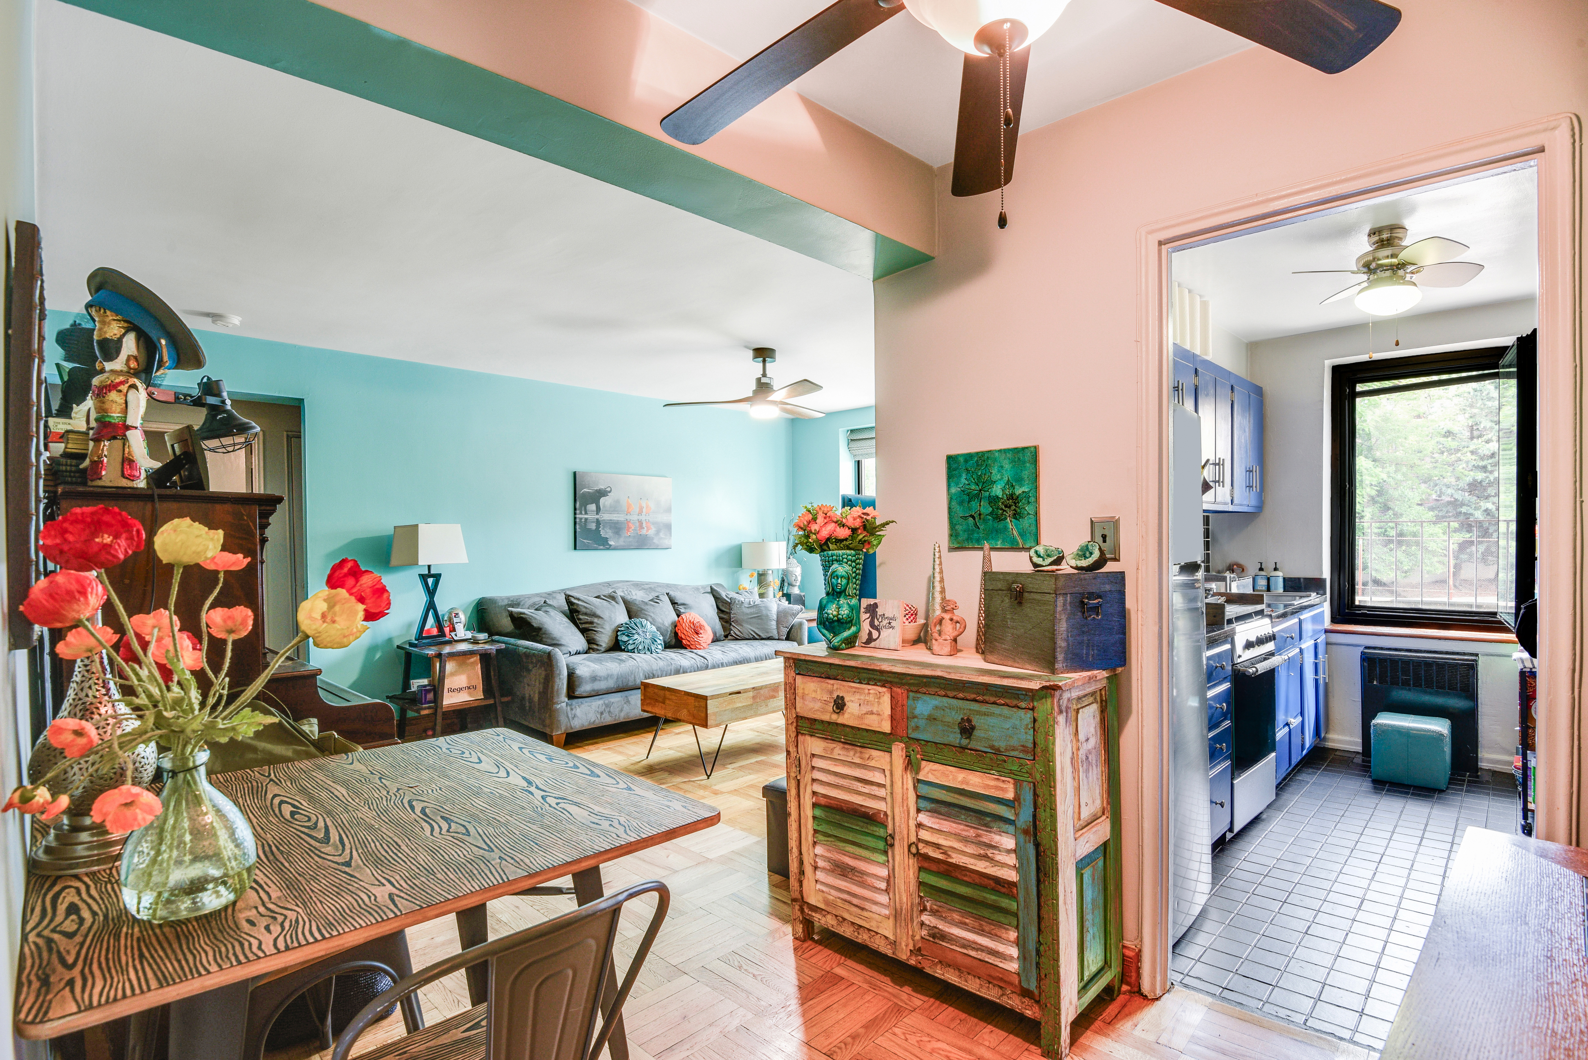
<instances>
[{"instance_id":1,"label":"white kitchen wall below the window, around the black radiator","mask_svg":"<svg viewBox=\"0 0 1588 1060\"><path fill-rule=\"evenodd\" d=\"M1363 749L1363 648L1420 648L1467 652L1478 656L1478 766L1510 771L1517 750L1515 644L1434 640L1429 637L1378 637L1328 634L1329 701L1323 744L1342 750Z\"/></svg>"}]
</instances>

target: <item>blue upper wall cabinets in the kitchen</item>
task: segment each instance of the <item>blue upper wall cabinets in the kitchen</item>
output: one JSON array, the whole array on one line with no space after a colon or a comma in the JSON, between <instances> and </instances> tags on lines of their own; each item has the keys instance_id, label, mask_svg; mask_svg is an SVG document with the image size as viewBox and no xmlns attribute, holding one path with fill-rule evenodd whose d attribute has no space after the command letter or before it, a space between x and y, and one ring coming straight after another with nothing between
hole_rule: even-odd
<instances>
[{"instance_id":1,"label":"blue upper wall cabinets in the kitchen","mask_svg":"<svg viewBox=\"0 0 1588 1060\"><path fill-rule=\"evenodd\" d=\"M1202 418L1204 512L1262 510L1262 388L1174 345L1170 400Z\"/></svg>"}]
</instances>

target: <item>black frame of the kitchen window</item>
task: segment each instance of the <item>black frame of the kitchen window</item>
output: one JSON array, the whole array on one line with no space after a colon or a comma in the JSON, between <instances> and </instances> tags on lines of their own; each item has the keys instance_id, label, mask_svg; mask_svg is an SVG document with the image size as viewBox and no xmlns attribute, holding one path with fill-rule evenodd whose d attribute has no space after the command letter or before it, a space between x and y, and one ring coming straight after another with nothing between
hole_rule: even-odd
<instances>
[{"instance_id":1,"label":"black frame of the kitchen window","mask_svg":"<svg viewBox=\"0 0 1588 1060\"><path fill-rule=\"evenodd\" d=\"M1329 566L1331 618L1337 625L1474 633L1510 633L1499 612L1463 612L1432 607L1356 605L1356 416L1358 383L1412 380L1450 370L1499 370L1510 345L1478 346L1450 353L1383 358L1337 364L1329 373L1331 470L1329 470Z\"/></svg>"}]
</instances>

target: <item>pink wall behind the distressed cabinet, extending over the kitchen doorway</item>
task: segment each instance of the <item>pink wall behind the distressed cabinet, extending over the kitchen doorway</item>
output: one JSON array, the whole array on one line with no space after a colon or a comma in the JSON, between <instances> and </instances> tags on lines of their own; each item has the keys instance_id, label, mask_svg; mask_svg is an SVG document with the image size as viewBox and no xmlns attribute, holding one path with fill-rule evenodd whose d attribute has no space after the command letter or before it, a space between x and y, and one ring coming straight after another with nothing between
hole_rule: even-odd
<instances>
[{"instance_id":1,"label":"pink wall behind the distressed cabinet, extending over the kitchen doorway","mask_svg":"<svg viewBox=\"0 0 1588 1060\"><path fill-rule=\"evenodd\" d=\"M1120 515L1134 613L1143 226L1588 113L1583 0L1396 2L1399 30L1347 73L1250 49L1021 137L1007 230L996 197L953 199L939 172L937 261L877 284L878 494L900 520L880 553L883 594L924 596L932 542L946 542L945 453L1040 445L1042 540L1069 548L1089 516ZM980 555L945 567L948 594L973 607ZM1131 636L1137 652L1134 621ZM1140 749L1123 699L1126 938L1139 939Z\"/></svg>"}]
</instances>

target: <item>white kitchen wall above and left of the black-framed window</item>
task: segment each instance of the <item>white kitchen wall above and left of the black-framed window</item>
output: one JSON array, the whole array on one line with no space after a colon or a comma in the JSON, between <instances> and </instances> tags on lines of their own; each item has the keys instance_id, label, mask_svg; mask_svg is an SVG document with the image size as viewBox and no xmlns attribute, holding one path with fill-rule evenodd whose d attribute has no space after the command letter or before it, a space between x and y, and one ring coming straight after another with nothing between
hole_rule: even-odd
<instances>
[{"instance_id":1,"label":"white kitchen wall above and left of the black-framed window","mask_svg":"<svg viewBox=\"0 0 1588 1060\"><path fill-rule=\"evenodd\" d=\"M1451 343L1510 342L1537 326L1537 308L1534 299L1524 299L1405 316L1397 324L1380 321L1374 326L1374 348L1378 356L1404 356ZM1399 348L1390 345L1394 329ZM1266 564L1280 559L1285 574L1328 574L1329 367L1359 361L1367 350L1366 324L1247 346L1247 378L1262 388L1262 512L1213 516L1215 571L1231 561L1256 571L1259 559Z\"/></svg>"}]
</instances>

